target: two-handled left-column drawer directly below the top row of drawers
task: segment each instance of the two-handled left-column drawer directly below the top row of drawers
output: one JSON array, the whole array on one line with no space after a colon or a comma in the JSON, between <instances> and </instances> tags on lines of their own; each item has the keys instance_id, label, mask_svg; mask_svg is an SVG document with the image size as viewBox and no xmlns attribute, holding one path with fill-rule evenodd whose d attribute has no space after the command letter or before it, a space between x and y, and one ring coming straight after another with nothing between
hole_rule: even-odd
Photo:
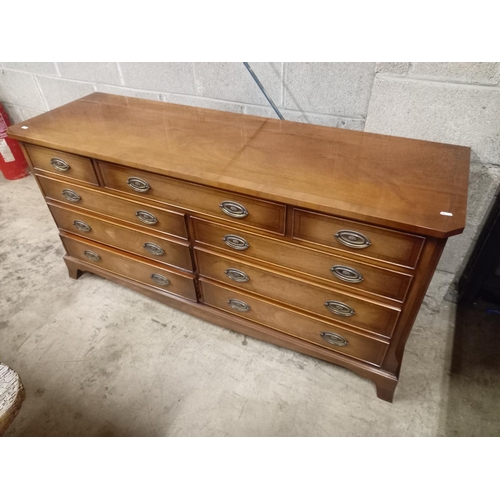
<instances>
[{"instance_id":1,"label":"two-handled left-column drawer directly below the top row of drawers","mask_svg":"<svg viewBox=\"0 0 500 500\"><path fill-rule=\"evenodd\" d=\"M118 196L75 186L68 182L42 176L37 177L48 199L102 213L135 224L143 229L154 229L187 239L186 222L182 214L151 207L144 203L124 200Z\"/></svg>"}]
</instances>

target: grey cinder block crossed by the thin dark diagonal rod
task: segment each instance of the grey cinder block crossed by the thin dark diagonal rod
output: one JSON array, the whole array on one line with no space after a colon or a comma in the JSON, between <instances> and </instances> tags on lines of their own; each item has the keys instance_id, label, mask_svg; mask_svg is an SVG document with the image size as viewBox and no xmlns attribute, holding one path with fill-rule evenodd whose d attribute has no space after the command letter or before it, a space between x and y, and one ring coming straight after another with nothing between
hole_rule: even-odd
<instances>
[{"instance_id":1,"label":"grey cinder block crossed by the thin dark diagonal rod","mask_svg":"<svg viewBox=\"0 0 500 500\"><path fill-rule=\"evenodd\" d=\"M281 63L250 62L266 92L281 106ZM243 63L195 63L196 94L203 97L268 105Z\"/></svg>"}]
</instances>

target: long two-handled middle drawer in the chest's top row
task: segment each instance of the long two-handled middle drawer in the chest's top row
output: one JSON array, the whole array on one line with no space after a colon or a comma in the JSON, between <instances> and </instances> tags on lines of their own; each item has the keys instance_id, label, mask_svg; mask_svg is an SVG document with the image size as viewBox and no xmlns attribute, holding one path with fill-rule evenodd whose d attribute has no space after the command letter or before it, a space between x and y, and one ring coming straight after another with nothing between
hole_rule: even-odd
<instances>
[{"instance_id":1,"label":"long two-handled middle drawer in the chest's top row","mask_svg":"<svg viewBox=\"0 0 500 500\"><path fill-rule=\"evenodd\" d=\"M278 234L285 232L285 205L109 163L99 162L99 168L106 187L244 226Z\"/></svg>"}]
</instances>

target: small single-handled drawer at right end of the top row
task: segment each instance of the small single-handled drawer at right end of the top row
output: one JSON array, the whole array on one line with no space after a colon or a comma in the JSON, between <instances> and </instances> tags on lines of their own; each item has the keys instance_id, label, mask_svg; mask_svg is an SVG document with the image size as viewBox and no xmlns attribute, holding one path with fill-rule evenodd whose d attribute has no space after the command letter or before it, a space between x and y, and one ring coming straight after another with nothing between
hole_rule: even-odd
<instances>
[{"instance_id":1,"label":"small single-handled drawer at right end of the top row","mask_svg":"<svg viewBox=\"0 0 500 500\"><path fill-rule=\"evenodd\" d=\"M425 238L306 210L293 210L293 237L341 252L414 268Z\"/></svg>"}]
</instances>

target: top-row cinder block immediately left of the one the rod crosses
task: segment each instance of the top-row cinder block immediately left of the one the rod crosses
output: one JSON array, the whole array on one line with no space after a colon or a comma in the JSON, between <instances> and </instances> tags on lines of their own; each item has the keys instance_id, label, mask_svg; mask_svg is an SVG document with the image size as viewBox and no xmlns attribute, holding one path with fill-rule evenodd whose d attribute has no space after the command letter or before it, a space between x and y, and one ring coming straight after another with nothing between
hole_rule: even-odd
<instances>
[{"instance_id":1,"label":"top-row cinder block immediately left of the one the rod crosses","mask_svg":"<svg viewBox=\"0 0 500 500\"><path fill-rule=\"evenodd\" d=\"M119 63L125 87L194 94L193 63Z\"/></svg>"}]
</instances>

